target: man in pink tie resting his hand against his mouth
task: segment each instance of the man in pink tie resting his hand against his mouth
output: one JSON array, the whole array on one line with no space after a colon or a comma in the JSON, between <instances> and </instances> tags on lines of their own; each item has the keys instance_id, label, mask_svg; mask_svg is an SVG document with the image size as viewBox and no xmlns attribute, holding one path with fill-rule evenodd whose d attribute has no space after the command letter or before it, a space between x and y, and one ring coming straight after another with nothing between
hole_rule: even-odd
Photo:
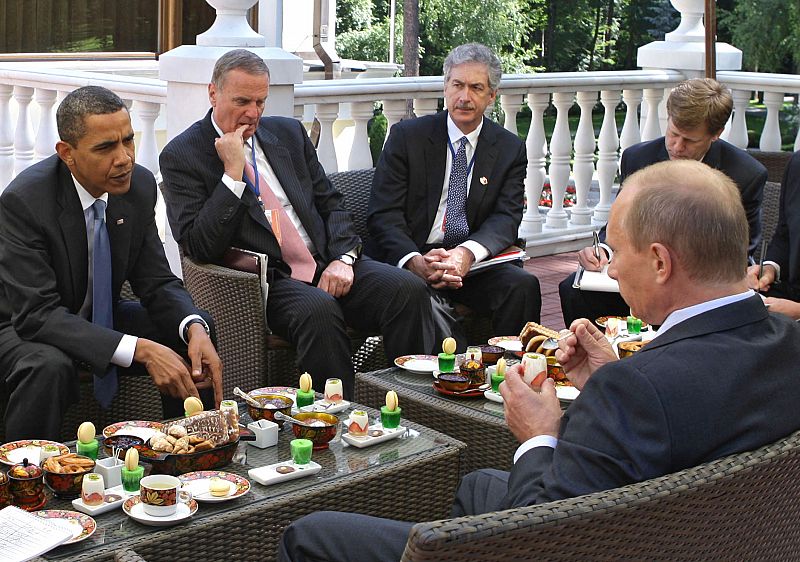
<instances>
[{"instance_id":1,"label":"man in pink tie resting his hand against his mouth","mask_svg":"<svg viewBox=\"0 0 800 562\"><path fill-rule=\"evenodd\" d=\"M341 378L352 399L347 326L382 333L392 359L430 353L430 299L414 275L360 255L350 213L303 125L261 117L268 94L258 55L220 57L211 110L161 152L170 224L184 252L204 262L219 263L231 246L266 254L270 328L295 346L314 388Z\"/></svg>"}]
</instances>

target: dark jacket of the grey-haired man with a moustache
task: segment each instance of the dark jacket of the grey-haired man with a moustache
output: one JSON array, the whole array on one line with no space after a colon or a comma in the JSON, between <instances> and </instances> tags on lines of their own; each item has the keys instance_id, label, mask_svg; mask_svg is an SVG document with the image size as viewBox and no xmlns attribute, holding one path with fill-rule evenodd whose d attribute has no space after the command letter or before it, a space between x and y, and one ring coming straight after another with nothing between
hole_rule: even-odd
<instances>
[{"instance_id":1,"label":"dark jacket of the grey-haired man with a moustache","mask_svg":"<svg viewBox=\"0 0 800 562\"><path fill-rule=\"evenodd\" d=\"M392 127L375 170L365 251L396 265L425 245L444 185L447 112L401 121ZM525 144L484 118L467 197L471 240L490 255L513 244L522 221ZM488 182L484 185L481 179Z\"/></svg>"}]
</instances>

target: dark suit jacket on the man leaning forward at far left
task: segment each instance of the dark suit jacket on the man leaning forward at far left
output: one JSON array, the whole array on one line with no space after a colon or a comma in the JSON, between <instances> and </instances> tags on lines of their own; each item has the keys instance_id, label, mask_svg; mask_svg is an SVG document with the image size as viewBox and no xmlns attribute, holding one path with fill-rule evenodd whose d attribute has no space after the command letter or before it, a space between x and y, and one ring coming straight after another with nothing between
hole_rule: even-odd
<instances>
[{"instance_id":1,"label":"dark suit jacket on the man leaning forward at far left","mask_svg":"<svg viewBox=\"0 0 800 562\"><path fill-rule=\"evenodd\" d=\"M153 322L175 330L198 311L169 269L155 225L153 175L135 166L131 188L110 195L115 302L127 279ZM54 155L12 181L0 197L0 331L53 345L102 372L122 335L78 316L87 290L86 223L69 169Z\"/></svg>"}]
</instances>

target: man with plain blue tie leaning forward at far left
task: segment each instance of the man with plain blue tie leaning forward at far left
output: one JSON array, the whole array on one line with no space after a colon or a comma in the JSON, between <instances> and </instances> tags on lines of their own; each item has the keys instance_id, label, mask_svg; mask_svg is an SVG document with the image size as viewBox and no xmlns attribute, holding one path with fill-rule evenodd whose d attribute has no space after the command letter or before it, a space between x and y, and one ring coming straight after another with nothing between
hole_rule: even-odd
<instances>
[{"instance_id":1,"label":"man with plain blue tie leaning forward at far left","mask_svg":"<svg viewBox=\"0 0 800 562\"><path fill-rule=\"evenodd\" d=\"M152 377L165 416L181 415L188 396L218 406L222 365L211 319L169 269L155 225L155 180L134 164L125 104L87 86L64 98L56 121L57 154L19 174L0 197L6 439L59 439L63 414L78 398L79 369L95 374L103 407L116 391L117 367L132 365ZM126 280L140 302L120 299Z\"/></svg>"}]
</instances>

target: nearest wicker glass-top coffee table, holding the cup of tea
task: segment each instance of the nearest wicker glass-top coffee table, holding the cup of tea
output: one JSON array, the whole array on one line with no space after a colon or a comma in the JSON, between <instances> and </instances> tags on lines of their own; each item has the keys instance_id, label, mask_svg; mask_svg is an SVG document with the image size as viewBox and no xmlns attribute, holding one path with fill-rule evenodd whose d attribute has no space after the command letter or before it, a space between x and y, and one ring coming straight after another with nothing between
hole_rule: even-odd
<instances>
[{"instance_id":1,"label":"nearest wicker glass-top coffee table, holding the cup of tea","mask_svg":"<svg viewBox=\"0 0 800 562\"><path fill-rule=\"evenodd\" d=\"M370 419L379 417L377 411L365 409ZM346 419L348 413L338 416ZM243 425L249 421L242 416ZM148 561L271 560L283 529L314 511L356 511L408 521L448 516L465 445L405 417L401 425L408 428L404 435L370 447L359 449L341 439L331 442L327 450L313 453L312 460L322 465L317 474L270 486L251 480L247 494L200 503L197 513L173 527L142 525L121 508L97 515L91 537L51 550L43 558L113 560L115 551L132 548ZM258 449L240 442L233 462L219 470L249 479L250 468L290 460L293 438L284 424L276 446ZM69 445L74 450L74 443ZM45 508L73 509L71 500L52 496Z\"/></svg>"}]
</instances>

